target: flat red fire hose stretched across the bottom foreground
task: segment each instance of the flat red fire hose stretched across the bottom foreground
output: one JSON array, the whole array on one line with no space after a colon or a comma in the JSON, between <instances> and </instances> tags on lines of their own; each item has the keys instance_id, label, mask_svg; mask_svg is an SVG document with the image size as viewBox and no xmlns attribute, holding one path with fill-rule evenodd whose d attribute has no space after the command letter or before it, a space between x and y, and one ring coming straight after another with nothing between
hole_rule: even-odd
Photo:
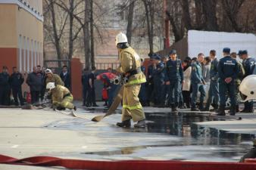
<instances>
[{"instance_id":1,"label":"flat red fire hose stretched across the bottom foreground","mask_svg":"<svg viewBox=\"0 0 256 170\"><path fill-rule=\"evenodd\" d=\"M70 169L90 170L252 170L256 169L255 163L239 162L182 162L164 160L125 160L125 161L95 161L79 159L61 159L52 156L33 156L16 159L0 155L0 163L11 165L37 165L37 166L62 166Z\"/></svg>"}]
</instances>

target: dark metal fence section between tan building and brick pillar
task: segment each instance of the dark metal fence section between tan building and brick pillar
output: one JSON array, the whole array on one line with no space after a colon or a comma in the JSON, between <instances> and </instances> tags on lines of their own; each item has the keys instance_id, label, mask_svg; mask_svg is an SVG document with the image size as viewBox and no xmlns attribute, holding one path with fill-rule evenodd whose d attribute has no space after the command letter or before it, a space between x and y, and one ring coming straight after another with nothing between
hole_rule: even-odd
<instances>
[{"instance_id":1,"label":"dark metal fence section between tan building and brick pillar","mask_svg":"<svg viewBox=\"0 0 256 170\"><path fill-rule=\"evenodd\" d=\"M61 67L66 65L70 71L70 60L45 60L44 66L48 69L51 69L53 73L60 74Z\"/></svg>"}]
</instances>

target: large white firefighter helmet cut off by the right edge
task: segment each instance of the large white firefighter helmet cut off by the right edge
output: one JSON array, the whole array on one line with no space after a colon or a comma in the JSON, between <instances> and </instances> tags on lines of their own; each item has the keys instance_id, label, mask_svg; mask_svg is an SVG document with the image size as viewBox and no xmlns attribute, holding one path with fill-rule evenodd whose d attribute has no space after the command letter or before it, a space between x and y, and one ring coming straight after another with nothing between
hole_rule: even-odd
<instances>
[{"instance_id":1,"label":"large white firefighter helmet cut off by the right edge","mask_svg":"<svg viewBox=\"0 0 256 170\"><path fill-rule=\"evenodd\" d=\"M242 100L256 99L256 75L246 76L239 87Z\"/></svg>"}]
</instances>

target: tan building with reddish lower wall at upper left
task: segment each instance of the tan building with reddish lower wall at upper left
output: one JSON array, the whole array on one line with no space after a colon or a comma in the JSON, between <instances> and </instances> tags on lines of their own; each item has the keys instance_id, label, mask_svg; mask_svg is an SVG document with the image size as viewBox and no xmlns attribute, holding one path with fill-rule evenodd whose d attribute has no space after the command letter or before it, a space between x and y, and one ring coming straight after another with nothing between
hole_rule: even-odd
<instances>
[{"instance_id":1,"label":"tan building with reddish lower wall at upper left","mask_svg":"<svg viewBox=\"0 0 256 170\"><path fill-rule=\"evenodd\" d=\"M0 0L0 70L30 72L42 65L42 1Z\"/></svg>"}]
</instances>

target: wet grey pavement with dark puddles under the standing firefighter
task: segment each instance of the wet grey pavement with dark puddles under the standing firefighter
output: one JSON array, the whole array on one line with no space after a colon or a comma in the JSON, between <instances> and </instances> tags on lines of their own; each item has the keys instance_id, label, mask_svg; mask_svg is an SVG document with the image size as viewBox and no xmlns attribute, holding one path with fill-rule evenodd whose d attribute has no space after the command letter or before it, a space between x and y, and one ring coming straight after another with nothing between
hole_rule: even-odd
<instances>
[{"instance_id":1,"label":"wet grey pavement with dark puddles under the standing firefighter","mask_svg":"<svg viewBox=\"0 0 256 170\"><path fill-rule=\"evenodd\" d=\"M256 131L255 114L244 114L237 121L210 117L209 113L172 113L169 108L152 107L145 107L147 128L117 128L120 109L97 123L90 119L106 112L103 107L76 111L86 119L68 116L66 111L1 109L0 153L17 158L44 155L238 162L251 148Z\"/></svg>"}]
</instances>

